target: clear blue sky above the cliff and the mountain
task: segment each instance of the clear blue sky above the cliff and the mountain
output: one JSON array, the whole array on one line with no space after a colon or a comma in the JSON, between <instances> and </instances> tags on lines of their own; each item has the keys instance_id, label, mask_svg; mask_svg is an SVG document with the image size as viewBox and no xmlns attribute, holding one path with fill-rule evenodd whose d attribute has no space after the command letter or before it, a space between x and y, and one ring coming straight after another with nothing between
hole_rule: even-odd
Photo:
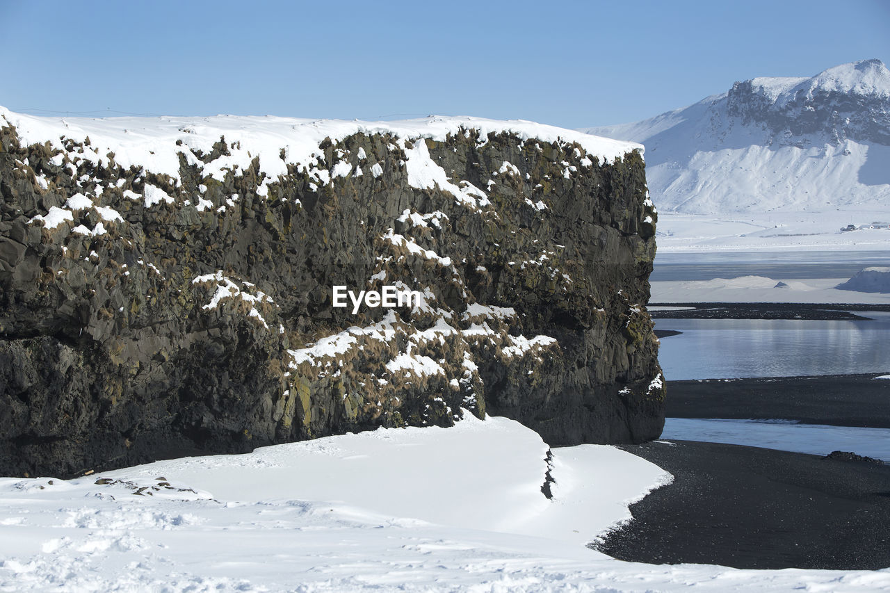
<instances>
[{"instance_id":1,"label":"clear blue sky above the cliff and the mountain","mask_svg":"<svg viewBox=\"0 0 890 593\"><path fill-rule=\"evenodd\" d=\"M890 0L0 0L0 105L84 115L649 118L890 61Z\"/></svg>"}]
</instances>

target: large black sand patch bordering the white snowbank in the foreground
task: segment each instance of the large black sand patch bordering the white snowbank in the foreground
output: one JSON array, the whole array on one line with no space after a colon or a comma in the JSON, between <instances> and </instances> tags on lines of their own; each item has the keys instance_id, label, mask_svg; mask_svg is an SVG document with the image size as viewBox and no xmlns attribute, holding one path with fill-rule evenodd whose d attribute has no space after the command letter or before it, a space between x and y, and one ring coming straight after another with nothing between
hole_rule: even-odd
<instances>
[{"instance_id":1,"label":"large black sand patch bordering the white snowbank in the foreground","mask_svg":"<svg viewBox=\"0 0 890 593\"><path fill-rule=\"evenodd\" d=\"M890 466L740 445L623 446L675 476L596 548L620 560L736 568L890 566Z\"/></svg>"}]
</instances>

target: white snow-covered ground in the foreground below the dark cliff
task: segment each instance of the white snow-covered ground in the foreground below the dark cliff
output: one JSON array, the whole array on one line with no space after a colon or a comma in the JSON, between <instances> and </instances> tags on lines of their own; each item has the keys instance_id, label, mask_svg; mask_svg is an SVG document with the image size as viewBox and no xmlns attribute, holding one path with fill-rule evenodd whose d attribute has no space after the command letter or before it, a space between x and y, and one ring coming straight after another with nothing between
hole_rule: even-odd
<instances>
[{"instance_id":1,"label":"white snow-covered ground in the foreground below the dark cliff","mask_svg":"<svg viewBox=\"0 0 890 593\"><path fill-rule=\"evenodd\" d=\"M643 565L585 547L670 477L504 418L0 480L0 590L877 591L890 570Z\"/></svg>"}]
</instances>

